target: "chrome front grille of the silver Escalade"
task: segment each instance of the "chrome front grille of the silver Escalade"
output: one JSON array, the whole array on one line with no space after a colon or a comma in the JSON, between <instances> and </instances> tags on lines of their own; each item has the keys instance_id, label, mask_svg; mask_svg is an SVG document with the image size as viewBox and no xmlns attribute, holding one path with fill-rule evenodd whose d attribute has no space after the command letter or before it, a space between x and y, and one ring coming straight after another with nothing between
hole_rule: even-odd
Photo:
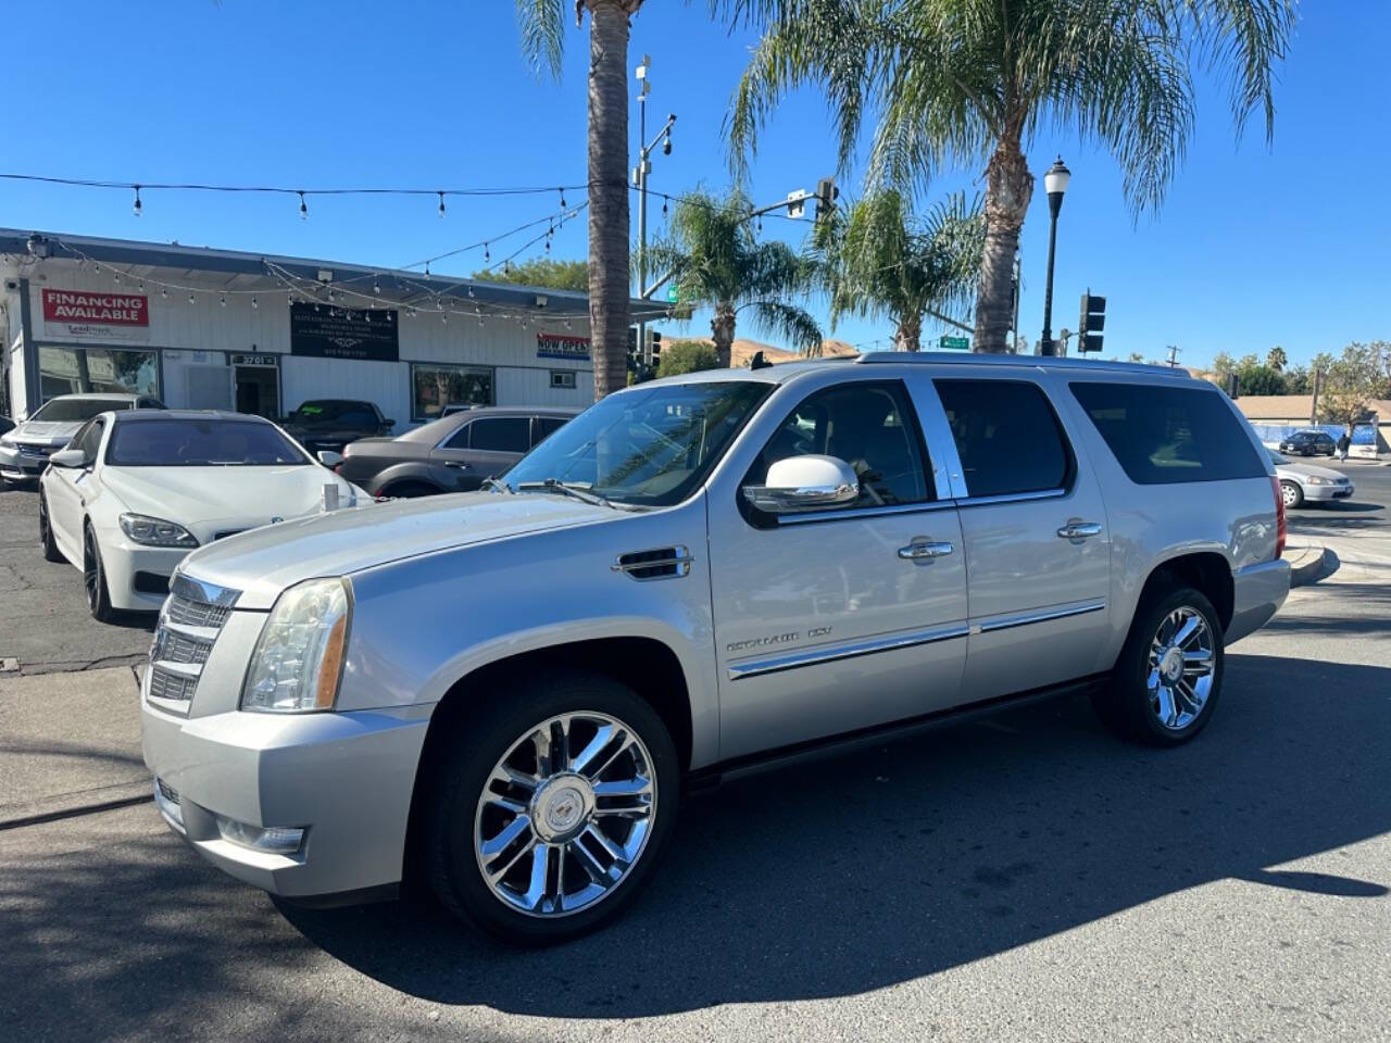
<instances>
[{"instance_id":1,"label":"chrome front grille of the silver Escalade","mask_svg":"<svg viewBox=\"0 0 1391 1043\"><path fill-rule=\"evenodd\" d=\"M241 591L191 580L182 573L174 573L170 590L150 645L149 697L188 713L203 665Z\"/></svg>"}]
</instances>

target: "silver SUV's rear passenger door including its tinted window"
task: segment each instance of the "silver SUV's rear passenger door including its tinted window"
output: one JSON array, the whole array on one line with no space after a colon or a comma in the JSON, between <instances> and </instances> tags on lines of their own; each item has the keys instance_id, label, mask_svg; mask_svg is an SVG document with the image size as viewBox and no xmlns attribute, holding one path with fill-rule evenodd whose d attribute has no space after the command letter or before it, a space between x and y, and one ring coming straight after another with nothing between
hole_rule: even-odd
<instances>
[{"instance_id":1,"label":"silver SUV's rear passenger door including its tinted window","mask_svg":"<svg viewBox=\"0 0 1391 1043\"><path fill-rule=\"evenodd\" d=\"M1097 669L1109 634L1100 487L1040 375L938 377L970 577L964 701Z\"/></svg>"}]
</instances>

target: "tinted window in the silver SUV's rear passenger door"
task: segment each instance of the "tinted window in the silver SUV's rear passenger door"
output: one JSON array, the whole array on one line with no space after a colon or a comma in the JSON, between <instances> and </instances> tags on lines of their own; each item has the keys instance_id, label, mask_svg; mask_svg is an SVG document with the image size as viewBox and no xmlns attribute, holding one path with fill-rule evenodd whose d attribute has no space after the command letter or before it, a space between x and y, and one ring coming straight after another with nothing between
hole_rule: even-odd
<instances>
[{"instance_id":1,"label":"tinted window in the silver SUV's rear passenger door","mask_svg":"<svg viewBox=\"0 0 1391 1043\"><path fill-rule=\"evenodd\" d=\"M1072 453L1038 384L1020 380L933 381L971 496L1066 488Z\"/></svg>"}]
</instances>

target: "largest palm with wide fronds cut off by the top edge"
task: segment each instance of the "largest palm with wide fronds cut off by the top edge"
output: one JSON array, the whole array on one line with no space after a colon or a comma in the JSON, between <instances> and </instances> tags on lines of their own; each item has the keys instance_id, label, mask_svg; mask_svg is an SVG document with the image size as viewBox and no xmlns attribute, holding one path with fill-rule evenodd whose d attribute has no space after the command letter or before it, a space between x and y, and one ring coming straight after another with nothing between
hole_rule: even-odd
<instances>
[{"instance_id":1,"label":"largest palm with wide fronds cut off by the top edge","mask_svg":"<svg viewBox=\"0 0 1391 1043\"><path fill-rule=\"evenodd\" d=\"M711 0L765 26L734 92L736 170L785 93L819 83L844 165L874 120L871 185L985 165L975 349L1000 352L1039 132L1079 132L1120 164L1134 216L1156 209L1192 135L1192 70L1225 74L1238 132L1274 121L1274 67L1296 0ZM1052 154L1052 150L1050 150Z\"/></svg>"}]
</instances>

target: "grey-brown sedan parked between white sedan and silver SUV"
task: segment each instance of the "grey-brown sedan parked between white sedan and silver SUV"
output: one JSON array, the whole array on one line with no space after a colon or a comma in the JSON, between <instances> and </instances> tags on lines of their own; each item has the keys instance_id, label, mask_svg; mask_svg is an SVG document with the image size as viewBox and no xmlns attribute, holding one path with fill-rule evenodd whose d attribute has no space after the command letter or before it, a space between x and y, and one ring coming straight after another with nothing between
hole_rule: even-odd
<instances>
[{"instance_id":1,"label":"grey-brown sedan parked between white sedan and silver SUV","mask_svg":"<svg viewBox=\"0 0 1391 1043\"><path fill-rule=\"evenodd\" d=\"M374 496L466 492L508 467L577 409L477 407L451 413L398 438L363 438L337 470Z\"/></svg>"}]
</instances>

